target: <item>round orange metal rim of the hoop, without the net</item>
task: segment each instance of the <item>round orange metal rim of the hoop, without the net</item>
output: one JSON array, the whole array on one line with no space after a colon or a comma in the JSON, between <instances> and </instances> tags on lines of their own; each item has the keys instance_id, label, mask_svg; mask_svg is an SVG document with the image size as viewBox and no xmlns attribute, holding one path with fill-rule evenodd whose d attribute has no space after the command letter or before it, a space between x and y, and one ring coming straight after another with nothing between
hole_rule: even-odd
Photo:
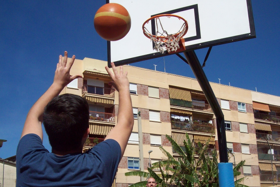
<instances>
[{"instance_id":1,"label":"round orange metal rim of the hoop, without the net","mask_svg":"<svg viewBox=\"0 0 280 187\"><path fill-rule=\"evenodd\" d=\"M156 15L156 16L153 16L153 17L150 17L149 19L147 19L147 20L143 23L143 25L142 25L143 33L144 33L144 35L145 35L147 38L151 38L151 37L153 37L153 38L165 38L165 37L166 37L166 36L151 35L151 34L147 33L147 32L145 31L145 29L144 29L144 28L145 28L145 25L146 25L148 22L150 22L152 19L155 19L155 18L158 18L158 17L177 17L177 18L183 20L183 21L185 22L185 24L186 24L186 29L185 29L185 31L184 31L184 33L182 34L181 37L183 37L183 36L187 33L187 31L188 31L188 29L189 29L188 22L187 22L183 17L177 16L177 15L173 15L173 14L161 14L161 15ZM179 32L179 33L170 35L170 36L178 37L178 35L180 35L181 33L182 33L182 31Z\"/></svg>"}]
</instances>

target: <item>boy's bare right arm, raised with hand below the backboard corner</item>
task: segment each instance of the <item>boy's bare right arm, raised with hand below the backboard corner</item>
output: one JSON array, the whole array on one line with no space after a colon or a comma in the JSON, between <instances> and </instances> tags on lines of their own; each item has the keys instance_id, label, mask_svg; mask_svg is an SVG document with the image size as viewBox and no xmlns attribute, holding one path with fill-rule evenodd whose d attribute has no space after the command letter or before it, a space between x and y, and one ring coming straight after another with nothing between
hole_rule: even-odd
<instances>
[{"instance_id":1,"label":"boy's bare right arm, raised with hand below the backboard corner","mask_svg":"<svg viewBox=\"0 0 280 187\"><path fill-rule=\"evenodd\" d=\"M128 139L132 132L134 118L132 112L132 103L129 92L129 81L127 78L127 72L124 73L123 67L120 66L119 74L114 65L111 63L113 72L106 66L108 74L111 76L113 81L110 83L119 92L119 111L118 111L118 122L116 126L108 133L106 139L116 140L122 150L122 156L124 155L125 148L127 146Z\"/></svg>"}]
</instances>

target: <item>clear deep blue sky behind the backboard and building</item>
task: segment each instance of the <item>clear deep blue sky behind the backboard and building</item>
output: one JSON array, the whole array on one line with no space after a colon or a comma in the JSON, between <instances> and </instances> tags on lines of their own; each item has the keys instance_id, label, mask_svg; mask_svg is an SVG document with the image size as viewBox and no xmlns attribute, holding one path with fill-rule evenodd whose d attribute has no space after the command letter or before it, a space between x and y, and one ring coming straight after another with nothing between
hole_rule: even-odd
<instances>
[{"instance_id":1,"label":"clear deep blue sky behind the backboard and building","mask_svg":"<svg viewBox=\"0 0 280 187\"><path fill-rule=\"evenodd\" d=\"M26 115L54 78L65 50L77 59L107 60L106 41L93 19L100 1L0 1L0 157L16 154ZM280 1L252 0L256 38L214 46L203 68L210 82L280 96ZM196 50L201 64L207 49ZM164 71L163 58L131 65ZM166 72L194 78L176 55L165 57ZM50 150L44 134L44 143Z\"/></svg>"}]
</instances>

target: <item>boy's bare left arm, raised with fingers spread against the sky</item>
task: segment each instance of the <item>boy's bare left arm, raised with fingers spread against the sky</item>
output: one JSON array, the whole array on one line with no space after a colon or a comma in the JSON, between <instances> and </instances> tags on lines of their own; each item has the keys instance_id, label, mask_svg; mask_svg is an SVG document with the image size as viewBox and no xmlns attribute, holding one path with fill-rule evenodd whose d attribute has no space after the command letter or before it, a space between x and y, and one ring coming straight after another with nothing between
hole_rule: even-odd
<instances>
[{"instance_id":1,"label":"boy's bare left arm, raised with fingers spread against the sky","mask_svg":"<svg viewBox=\"0 0 280 187\"><path fill-rule=\"evenodd\" d=\"M62 89L72 80L76 79L77 77L82 77L80 75L70 75L70 69L74 63L74 60L75 55L73 55L72 59L67 63L67 51L64 52L63 62L62 55L59 56L59 61L54 75L54 83L31 107L24 123L21 138L26 134L34 133L37 134L43 141L42 122L45 106L54 97L58 96Z\"/></svg>"}]
</instances>

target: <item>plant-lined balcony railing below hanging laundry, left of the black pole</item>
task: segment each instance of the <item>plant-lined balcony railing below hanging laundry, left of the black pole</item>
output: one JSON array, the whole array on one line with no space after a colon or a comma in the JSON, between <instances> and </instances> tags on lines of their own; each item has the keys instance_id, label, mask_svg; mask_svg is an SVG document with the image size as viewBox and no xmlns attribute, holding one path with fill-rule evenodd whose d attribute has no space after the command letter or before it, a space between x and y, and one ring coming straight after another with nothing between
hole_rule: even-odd
<instances>
[{"instance_id":1,"label":"plant-lined balcony railing below hanging laundry, left of the black pole","mask_svg":"<svg viewBox=\"0 0 280 187\"><path fill-rule=\"evenodd\" d=\"M171 120L171 128L185 131L195 131L204 133L215 133L215 127L211 123L203 122L176 122Z\"/></svg>"}]
</instances>

